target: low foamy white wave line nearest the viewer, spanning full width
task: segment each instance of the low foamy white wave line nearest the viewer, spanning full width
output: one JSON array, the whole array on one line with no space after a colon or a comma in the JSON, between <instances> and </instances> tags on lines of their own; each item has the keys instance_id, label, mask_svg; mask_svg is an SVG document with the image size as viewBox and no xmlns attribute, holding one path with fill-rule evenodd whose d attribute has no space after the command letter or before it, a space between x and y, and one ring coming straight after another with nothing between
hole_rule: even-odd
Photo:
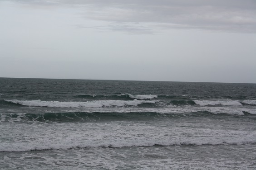
<instances>
[{"instance_id":1,"label":"low foamy white wave line nearest the viewer, spanning full width","mask_svg":"<svg viewBox=\"0 0 256 170\"><path fill-rule=\"evenodd\" d=\"M120 141L106 141L106 142L95 142L95 141L84 141L74 142L67 141L63 143L2 143L0 145L0 152L3 151L34 151L34 150L51 150L51 149L80 149L80 148L96 148L96 147L132 147L132 146L172 146L172 145L243 145L243 144L254 144L256 143L256 137L222 137L222 138L206 138L198 137L197 139L134 139L134 140L120 140Z\"/></svg>"}]
</instances>

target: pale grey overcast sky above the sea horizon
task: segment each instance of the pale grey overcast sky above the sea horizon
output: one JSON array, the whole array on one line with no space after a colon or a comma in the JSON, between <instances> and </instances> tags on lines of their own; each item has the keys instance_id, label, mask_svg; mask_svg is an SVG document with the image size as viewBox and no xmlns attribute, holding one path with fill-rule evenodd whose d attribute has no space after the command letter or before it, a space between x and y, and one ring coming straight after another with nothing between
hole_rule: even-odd
<instances>
[{"instance_id":1,"label":"pale grey overcast sky above the sea horizon","mask_svg":"<svg viewBox=\"0 0 256 170\"><path fill-rule=\"evenodd\" d=\"M256 0L0 0L0 77L256 83Z\"/></svg>"}]
</instances>

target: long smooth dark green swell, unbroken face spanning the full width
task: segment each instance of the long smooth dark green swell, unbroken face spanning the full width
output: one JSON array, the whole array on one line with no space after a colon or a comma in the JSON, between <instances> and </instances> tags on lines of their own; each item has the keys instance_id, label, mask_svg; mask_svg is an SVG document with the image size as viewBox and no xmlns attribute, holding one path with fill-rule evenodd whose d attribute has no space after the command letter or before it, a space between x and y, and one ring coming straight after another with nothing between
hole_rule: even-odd
<instances>
[{"instance_id":1,"label":"long smooth dark green swell, unbroken face spanning the full width","mask_svg":"<svg viewBox=\"0 0 256 170\"><path fill-rule=\"evenodd\" d=\"M215 113L197 111L193 113L157 113L157 112L63 112L63 113L8 113L0 114L0 122L95 122L95 121L147 121L156 119L178 118L224 118L232 116L256 119L256 115L242 112L243 114Z\"/></svg>"}]
</instances>

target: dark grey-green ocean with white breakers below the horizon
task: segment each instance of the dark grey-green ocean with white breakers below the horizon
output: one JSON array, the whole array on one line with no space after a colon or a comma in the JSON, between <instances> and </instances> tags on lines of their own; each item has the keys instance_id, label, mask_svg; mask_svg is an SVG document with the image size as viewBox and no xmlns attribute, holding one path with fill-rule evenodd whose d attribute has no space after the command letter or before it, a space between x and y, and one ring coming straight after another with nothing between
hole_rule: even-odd
<instances>
[{"instance_id":1,"label":"dark grey-green ocean with white breakers below the horizon","mask_svg":"<svg viewBox=\"0 0 256 170\"><path fill-rule=\"evenodd\" d=\"M0 78L1 170L255 170L256 84Z\"/></svg>"}]
</instances>

